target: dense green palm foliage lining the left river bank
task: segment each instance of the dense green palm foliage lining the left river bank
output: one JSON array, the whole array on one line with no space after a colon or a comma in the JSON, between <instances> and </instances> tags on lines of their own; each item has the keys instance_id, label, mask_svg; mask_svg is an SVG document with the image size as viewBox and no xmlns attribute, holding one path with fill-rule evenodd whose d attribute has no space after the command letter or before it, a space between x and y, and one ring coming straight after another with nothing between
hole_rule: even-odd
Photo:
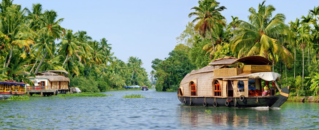
<instances>
[{"instance_id":1,"label":"dense green palm foliage lining the left river bank","mask_svg":"<svg viewBox=\"0 0 319 130\"><path fill-rule=\"evenodd\" d=\"M60 24L54 10L31 9L0 3L0 80L23 81L46 70L70 73L70 86L83 92L103 92L123 86L150 86L142 60L130 57L125 63L113 56L106 38L93 40L86 31L72 31Z\"/></svg>"}]
</instances>

